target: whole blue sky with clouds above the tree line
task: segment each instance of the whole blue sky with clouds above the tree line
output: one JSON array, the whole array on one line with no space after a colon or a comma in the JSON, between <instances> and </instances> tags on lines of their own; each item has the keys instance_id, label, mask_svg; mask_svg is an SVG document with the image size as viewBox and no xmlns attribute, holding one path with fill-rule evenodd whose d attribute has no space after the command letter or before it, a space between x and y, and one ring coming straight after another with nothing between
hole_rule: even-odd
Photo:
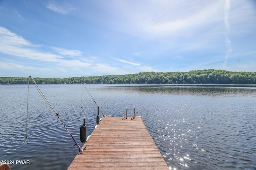
<instances>
[{"instance_id":1,"label":"whole blue sky with clouds above the tree line","mask_svg":"<svg viewBox=\"0 0 256 170\"><path fill-rule=\"evenodd\" d=\"M0 77L256 71L254 0L0 0Z\"/></svg>"}]
</instances>

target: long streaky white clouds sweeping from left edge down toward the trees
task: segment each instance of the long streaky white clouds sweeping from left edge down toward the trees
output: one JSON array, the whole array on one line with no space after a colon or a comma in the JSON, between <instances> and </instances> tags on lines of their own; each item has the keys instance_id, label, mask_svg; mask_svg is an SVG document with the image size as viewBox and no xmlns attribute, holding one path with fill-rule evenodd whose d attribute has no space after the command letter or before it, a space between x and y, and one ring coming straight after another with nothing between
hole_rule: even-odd
<instances>
[{"instance_id":1,"label":"long streaky white clouds sweeping from left edge down toward the trees","mask_svg":"<svg viewBox=\"0 0 256 170\"><path fill-rule=\"evenodd\" d=\"M0 68L8 70L36 70L39 72L56 72L56 70L61 70L62 72L67 72L70 70L76 70L81 74L92 74L93 72L105 72L106 74L128 74L129 71L122 70L121 68L111 66L110 64L92 64L88 63L84 57L82 57L82 52L78 50L69 50L59 47L50 47L54 49L60 55L56 55L50 52L41 51L40 45L30 43L23 37L12 33L4 27L0 27L0 53L5 55L12 55L18 58L26 58L33 61L38 61L36 65L30 65L26 63L26 60L22 64L16 64L16 61L11 58L5 60L2 58L0 60ZM78 59L67 59L64 56L81 56ZM97 59L97 57L89 57L91 60ZM137 63L127 62L119 60L124 63L129 63L133 65L140 65ZM42 63L39 63L42 62ZM38 64L44 65L43 67L38 68ZM42 66L41 65L41 66ZM76 73L77 74L77 73Z\"/></svg>"}]
</instances>

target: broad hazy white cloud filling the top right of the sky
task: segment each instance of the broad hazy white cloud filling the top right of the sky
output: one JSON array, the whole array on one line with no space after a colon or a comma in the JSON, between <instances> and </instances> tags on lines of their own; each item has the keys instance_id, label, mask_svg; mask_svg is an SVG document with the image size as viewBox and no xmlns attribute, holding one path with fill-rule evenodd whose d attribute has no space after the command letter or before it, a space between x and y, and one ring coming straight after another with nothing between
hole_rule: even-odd
<instances>
[{"instance_id":1,"label":"broad hazy white cloud filling the top right of the sky","mask_svg":"<svg viewBox=\"0 0 256 170\"><path fill-rule=\"evenodd\" d=\"M243 1L223 0L185 1L118 1L109 0L96 4L101 12L90 11L91 20L120 32L144 38L174 39L206 34L208 31L223 31L223 19L231 31L251 29L255 25L255 6ZM102 8L104 6L104 8ZM225 7L226 6L226 7ZM234 6L234 8L232 8ZM230 8L231 7L231 8ZM228 12L230 10L230 12ZM254 10L254 11L252 11ZM227 14L230 13L230 14ZM232 15L232 16L231 16ZM230 18L230 22L228 22ZM232 20L232 22L231 22ZM246 24L245 24L246 23ZM209 35L210 36L210 35ZM205 37L207 39L208 37Z\"/></svg>"}]
</instances>

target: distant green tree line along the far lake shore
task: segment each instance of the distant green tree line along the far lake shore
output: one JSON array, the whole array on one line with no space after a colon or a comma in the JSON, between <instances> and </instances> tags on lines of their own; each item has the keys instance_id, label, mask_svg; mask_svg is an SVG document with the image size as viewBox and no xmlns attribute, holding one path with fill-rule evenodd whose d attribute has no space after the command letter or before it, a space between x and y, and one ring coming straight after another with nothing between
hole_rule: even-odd
<instances>
[{"instance_id":1,"label":"distant green tree line along the far lake shore","mask_svg":"<svg viewBox=\"0 0 256 170\"><path fill-rule=\"evenodd\" d=\"M256 72L193 70L71 78L34 78L37 84L256 84ZM25 77L0 77L0 84L28 84Z\"/></svg>"}]
</instances>

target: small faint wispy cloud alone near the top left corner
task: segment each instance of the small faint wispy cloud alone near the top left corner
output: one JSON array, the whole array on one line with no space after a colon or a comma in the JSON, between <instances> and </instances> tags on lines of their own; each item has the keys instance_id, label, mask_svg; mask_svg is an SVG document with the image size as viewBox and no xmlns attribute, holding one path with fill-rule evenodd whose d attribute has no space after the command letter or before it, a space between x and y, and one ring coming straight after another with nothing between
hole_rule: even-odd
<instances>
[{"instance_id":1,"label":"small faint wispy cloud alone near the top left corner","mask_svg":"<svg viewBox=\"0 0 256 170\"><path fill-rule=\"evenodd\" d=\"M58 13L63 14L63 15L70 14L72 11L75 10L75 8L71 4L68 4L66 2L64 2L63 4L60 4L60 3L57 3L55 1L49 2L47 8L49 10L52 10L54 12L58 12Z\"/></svg>"}]
</instances>

